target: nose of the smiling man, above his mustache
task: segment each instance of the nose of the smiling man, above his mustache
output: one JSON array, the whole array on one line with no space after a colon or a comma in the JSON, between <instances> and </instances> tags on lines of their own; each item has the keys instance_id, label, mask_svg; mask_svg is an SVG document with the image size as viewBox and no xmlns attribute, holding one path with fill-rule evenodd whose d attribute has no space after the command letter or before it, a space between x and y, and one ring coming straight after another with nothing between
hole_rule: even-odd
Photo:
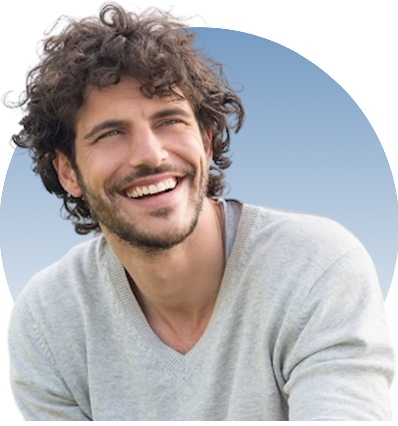
<instances>
[{"instance_id":1,"label":"nose of the smiling man, above his mustache","mask_svg":"<svg viewBox=\"0 0 398 426\"><path fill-rule=\"evenodd\" d=\"M167 159L168 152L164 140L145 126L132 135L129 156L130 164L134 168L155 168Z\"/></svg>"}]
</instances>

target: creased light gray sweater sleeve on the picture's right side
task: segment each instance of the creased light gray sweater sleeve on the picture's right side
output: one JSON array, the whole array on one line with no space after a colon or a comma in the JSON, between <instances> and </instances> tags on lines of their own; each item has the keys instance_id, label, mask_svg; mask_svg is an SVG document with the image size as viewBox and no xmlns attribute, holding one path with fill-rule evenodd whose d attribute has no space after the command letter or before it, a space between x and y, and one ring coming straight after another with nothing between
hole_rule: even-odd
<instances>
[{"instance_id":1,"label":"creased light gray sweater sleeve on the picture's right side","mask_svg":"<svg viewBox=\"0 0 398 426\"><path fill-rule=\"evenodd\" d=\"M284 337L290 422L392 422L394 348L376 268L364 247L302 295Z\"/></svg>"}]
</instances>

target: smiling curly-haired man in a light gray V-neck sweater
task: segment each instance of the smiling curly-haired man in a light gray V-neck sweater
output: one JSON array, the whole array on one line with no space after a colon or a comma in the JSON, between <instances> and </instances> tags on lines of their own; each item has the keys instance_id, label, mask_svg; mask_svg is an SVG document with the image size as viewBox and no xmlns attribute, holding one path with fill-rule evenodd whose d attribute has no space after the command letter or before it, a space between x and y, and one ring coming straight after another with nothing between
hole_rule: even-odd
<instances>
[{"instance_id":1,"label":"smiling curly-haired man in a light gray V-neck sweater","mask_svg":"<svg viewBox=\"0 0 398 426\"><path fill-rule=\"evenodd\" d=\"M389 421L394 352L369 254L332 219L215 196L222 107L239 123L243 108L183 36L120 20L72 33L47 64L19 145L36 149L50 192L75 200L71 215L93 220L75 230L102 234L11 309L21 413Z\"/></svg>"}]
</instances>

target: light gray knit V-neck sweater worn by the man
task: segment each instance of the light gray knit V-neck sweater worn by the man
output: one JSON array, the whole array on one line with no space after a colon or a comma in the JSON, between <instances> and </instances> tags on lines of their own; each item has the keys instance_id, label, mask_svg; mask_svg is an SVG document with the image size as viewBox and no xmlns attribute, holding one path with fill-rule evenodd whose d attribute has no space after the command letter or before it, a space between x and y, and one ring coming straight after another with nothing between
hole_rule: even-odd
<instances>
[{"instance_id":1,"label":"light gray knit V-neck sweater worn by the man","mask_svg":"<svg viewBox=\"0 0 398 426\"><path fill-rule=\"evenodd\" d=\"M23 416L392 421L393 343L362 243L324 216L214 199L227 264L208 327L186 355L152 331L103 235L29 280L6 335Z\"/></svg>"}]
</instances>

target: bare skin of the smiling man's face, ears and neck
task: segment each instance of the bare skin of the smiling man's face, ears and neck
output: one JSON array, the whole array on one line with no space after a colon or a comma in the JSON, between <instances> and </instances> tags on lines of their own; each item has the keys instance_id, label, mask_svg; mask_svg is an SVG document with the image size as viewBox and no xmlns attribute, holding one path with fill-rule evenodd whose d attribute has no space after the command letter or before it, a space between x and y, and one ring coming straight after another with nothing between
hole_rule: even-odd
<instances>
[{"instance_id":1,"label":"bare skin of the smiling man's face, ears and neck","mask_svg":"<svg viewBox=\"0 0 398 426\"><path fill-rule=\"evenodd\" d=\"M124 77L103 91L87 89L76 122L78 170L58 151L53 164L63 188L84 195L152 327L170 340L189 339L204 331L225 269L222 214L206 197L212 136L206 131L202 138L189 102L148 99L139 86ZM149 119L175 106L190 117ZM128 126L96 142L114 128L83 139L109 118L126 119ZM182 122L167 123L172 119ZM119 193L137 179L166 172L187 177L162 209L138 208Z\"/></svg>"}]
</instances>

